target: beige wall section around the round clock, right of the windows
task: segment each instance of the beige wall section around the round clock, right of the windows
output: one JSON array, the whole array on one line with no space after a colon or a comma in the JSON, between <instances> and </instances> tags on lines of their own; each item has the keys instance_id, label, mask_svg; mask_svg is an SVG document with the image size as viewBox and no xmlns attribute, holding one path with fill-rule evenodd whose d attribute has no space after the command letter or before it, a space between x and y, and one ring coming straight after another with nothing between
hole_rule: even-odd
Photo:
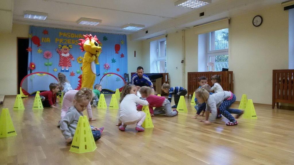
<instances>
[{"instance_id":1,"label":"beige wall section around the round clock, right of the windows","mask_svg":"<svg viewBox=\"0 0 294 165\"><path fill-rule=\"evenodd\" d=\"M255 15L263 17L259 27ZM288 69L288 11L278 5L232 17L229 26L229 69L234 72L234 93L256 103L272 102L272 70Z\"/></svg>"}]
</instances>

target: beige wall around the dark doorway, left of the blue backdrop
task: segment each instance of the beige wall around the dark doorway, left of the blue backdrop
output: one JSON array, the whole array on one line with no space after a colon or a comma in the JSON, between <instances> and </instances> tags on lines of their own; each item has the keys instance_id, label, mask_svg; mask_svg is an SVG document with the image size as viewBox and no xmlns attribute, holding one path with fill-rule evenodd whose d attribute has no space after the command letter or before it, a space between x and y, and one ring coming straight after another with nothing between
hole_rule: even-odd
<instances>
[{"instance_id":1,"label":"beige wall around the dark doorway, left of the blue backdrop","mask_svg":"<svg viewBox=\"0 0 294 165\"><path fill-rule=\"evenodd\" d=\"M13 25L11 33L0 33L0 94L16 95L16 37L28 37L28 25Z\"/></svg>"}]
</instances>

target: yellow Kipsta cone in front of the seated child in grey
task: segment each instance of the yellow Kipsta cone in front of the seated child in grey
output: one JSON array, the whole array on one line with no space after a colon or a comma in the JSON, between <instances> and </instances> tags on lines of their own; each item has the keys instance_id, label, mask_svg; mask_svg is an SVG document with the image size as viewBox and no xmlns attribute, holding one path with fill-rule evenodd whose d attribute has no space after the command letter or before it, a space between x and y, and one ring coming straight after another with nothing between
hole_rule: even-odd
<instances>
[{"instance_id":1,"label":"yellow Kipsta cone in front of the seated child in grey","mask_svg":"<svg viewBox=\"0 0 294 165\"><path fill-rule=\"evenodd\" d=\"M80 116L69 151L79 154L95 151L96 148L97 146L95 144L88 118L87 116Z\"/></svg>"}]
</instances>

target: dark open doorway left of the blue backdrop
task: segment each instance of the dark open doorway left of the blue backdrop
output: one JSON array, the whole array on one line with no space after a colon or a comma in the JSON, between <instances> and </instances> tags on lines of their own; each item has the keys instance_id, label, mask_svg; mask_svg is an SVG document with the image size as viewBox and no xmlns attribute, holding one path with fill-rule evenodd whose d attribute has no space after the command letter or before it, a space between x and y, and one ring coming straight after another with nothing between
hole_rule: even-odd
<instances>
[{"instance_id":1,"label":"dark open doorway left of the blue backdrop","mask_svg":"<svg viewBox=\"0 0 294 165\"><path fill-rule=\"evenodd\" d=\"M28 51L29 38L17 38L17 93L19 94L19 87L21 80L28 74Z\"/></svg>"}]
</instances>

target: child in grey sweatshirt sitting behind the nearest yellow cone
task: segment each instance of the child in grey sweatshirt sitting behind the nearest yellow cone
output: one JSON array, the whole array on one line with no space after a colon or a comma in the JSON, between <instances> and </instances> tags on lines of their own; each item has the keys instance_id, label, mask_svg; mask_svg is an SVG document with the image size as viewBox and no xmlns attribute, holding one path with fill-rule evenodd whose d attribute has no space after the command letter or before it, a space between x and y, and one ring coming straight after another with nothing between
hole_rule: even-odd
<instances>
[{"instance_id":1,"label":"child in grey sweatshirt sitting behind the nearest yellow cone","mask_svg":"<svg viewBox=\"0 0 294 165\"><path fill-rule=\"evenodd\" d=\"M79 90L74 97L74 106L69 107L66 115L61 119L60 129L67 143L72 141L76 132L78 119L80 116L83 116L83 111L89 105L91 98L92 92L90 89L83 88ZM104 127L97 128L91 126L95 141L100 139L103 129Z\"/></svg>"}]
</instances>

